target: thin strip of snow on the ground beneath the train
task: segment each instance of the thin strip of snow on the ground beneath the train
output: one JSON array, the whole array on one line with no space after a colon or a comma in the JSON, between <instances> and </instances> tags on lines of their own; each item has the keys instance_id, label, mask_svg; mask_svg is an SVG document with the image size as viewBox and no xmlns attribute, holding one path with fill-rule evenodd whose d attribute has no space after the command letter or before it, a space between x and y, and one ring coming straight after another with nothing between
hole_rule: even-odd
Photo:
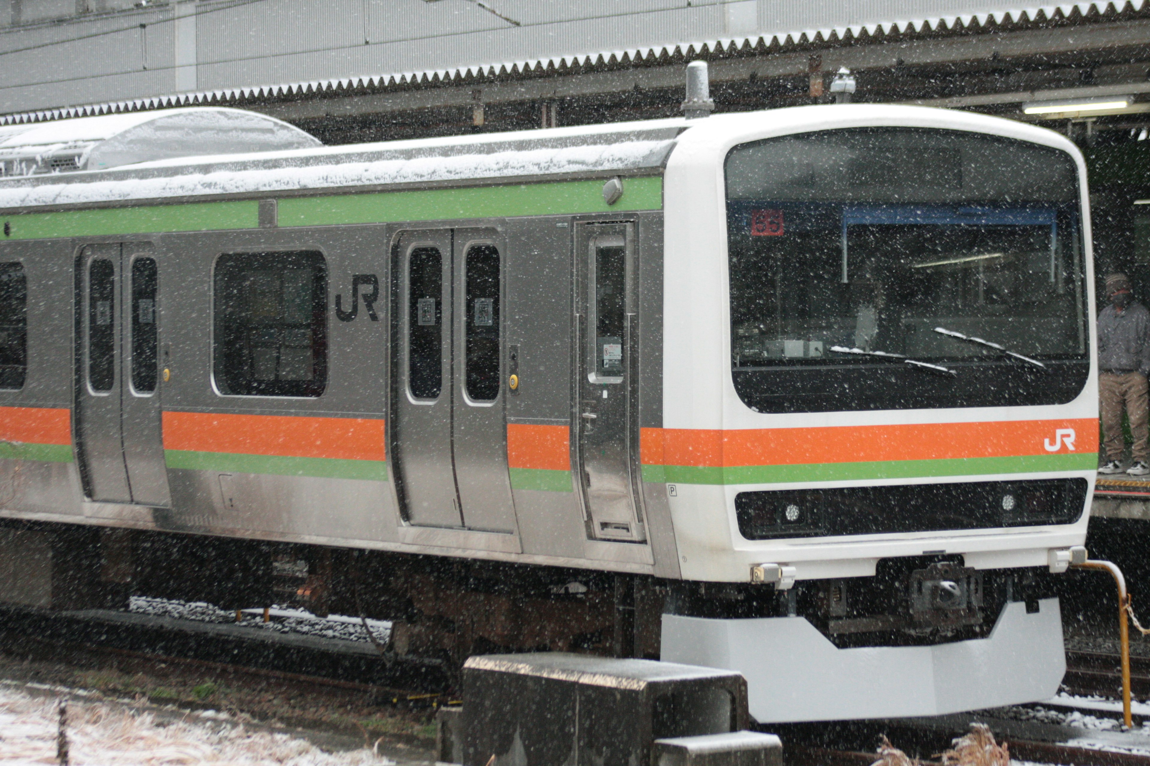
<instances>
[{"instance_id":1,"label":"thin strip of snow on the ground beneath the train","mask_svg":"<svg viewBox=\"0 0 1150 766\"><path fill-rule=\"evenodd\" d=\"M204 602L171 601L167 598L146 598L132 596L128 611L137 614L156 617L175 617L182 620L200 622L236 622L236 612L222 610ZM363 621L358 617L330 614L316 617L300 609L271 608L271 621L263 621L262 609L245 609L244 627L275 630L277 633L302 633L321 639L342 639L344 641L369 641L363 630ZM391 622L368 620L371 634L379 643L386 643L391 634Z\"/></svg>"}]
</instances>

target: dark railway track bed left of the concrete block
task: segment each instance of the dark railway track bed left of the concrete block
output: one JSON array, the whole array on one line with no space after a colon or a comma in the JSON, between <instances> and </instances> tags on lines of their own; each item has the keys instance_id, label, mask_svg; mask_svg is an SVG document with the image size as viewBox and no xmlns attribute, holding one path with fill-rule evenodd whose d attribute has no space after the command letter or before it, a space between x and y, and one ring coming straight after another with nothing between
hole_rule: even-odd
<instances>
[{"instance_id":1,"label":"dark railway track bed left of the concrete block","mask_svg":"<svg viewBox=\"0 0 1150 766\"><path fill-rule=\"evenodd\" d=\"M453 702L442 663L381 657L366 642L124 612L0 608L0 675L365 741L384 737L416 751L434 742L434 710Z\"/></svg>"}]
</instances>

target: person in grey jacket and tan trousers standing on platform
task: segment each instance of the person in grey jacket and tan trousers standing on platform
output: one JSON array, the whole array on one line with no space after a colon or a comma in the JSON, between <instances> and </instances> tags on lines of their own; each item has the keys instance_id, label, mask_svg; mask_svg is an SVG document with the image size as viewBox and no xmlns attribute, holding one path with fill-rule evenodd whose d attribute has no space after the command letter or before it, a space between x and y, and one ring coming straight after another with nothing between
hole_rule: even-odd
<instances>
[{"instance_id":1,"label":"person in grey jacket and tan trousers standing on platform","mask_svg":"<svg viewBox=\"0 0 1150 766\"><path fill-rule=\"evenodd\" d=\"M1106 464L1098 473L1122 471L1122 409L1134 436L1130 475L1150 473L1147 448L1147 374L1150 374L1150 311L1134 300L1126 274L1106 277L1110 305L1098 315L1098 399L1102 409Z\"/></svg>"}]
</instances>

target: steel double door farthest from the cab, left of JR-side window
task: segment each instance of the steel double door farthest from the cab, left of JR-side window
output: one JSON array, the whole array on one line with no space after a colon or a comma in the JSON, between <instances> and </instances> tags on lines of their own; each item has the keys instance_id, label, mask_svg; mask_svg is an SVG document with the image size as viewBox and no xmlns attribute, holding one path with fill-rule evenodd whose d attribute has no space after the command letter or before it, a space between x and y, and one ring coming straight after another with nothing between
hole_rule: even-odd
<instances>
[{"instance_id":1,"label":"steel double door farthest from the cab, left of JR-side window","mask_svg":"<svg viewBox=\"0 0 1150 766\"><path fill-rule=\"evenodd\" d=\"M169 505L152 246L90 245L76 271L76 451L85 492L101 502Z\"/></svg>"}]
</instances>

